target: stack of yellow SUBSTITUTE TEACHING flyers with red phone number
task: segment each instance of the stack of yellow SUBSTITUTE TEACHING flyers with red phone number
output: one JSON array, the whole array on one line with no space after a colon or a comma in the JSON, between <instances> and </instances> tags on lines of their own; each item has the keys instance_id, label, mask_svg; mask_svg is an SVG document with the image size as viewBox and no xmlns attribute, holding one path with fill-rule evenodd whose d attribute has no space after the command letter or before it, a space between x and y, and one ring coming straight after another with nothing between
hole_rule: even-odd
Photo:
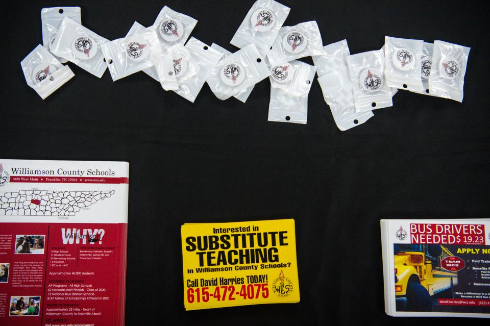
<instances>
[{"instance_id":1,"label":"stack of yellow SUBSTITUTE TEACHING flyers with red phone number","mask_svg":"<svg viewBox=\"0 0 490 326\"><path fill-rule=\"evenodd\" d=\"M295 220L182 225L186 310L300 301Z\"/></svg>"}]
</instances>

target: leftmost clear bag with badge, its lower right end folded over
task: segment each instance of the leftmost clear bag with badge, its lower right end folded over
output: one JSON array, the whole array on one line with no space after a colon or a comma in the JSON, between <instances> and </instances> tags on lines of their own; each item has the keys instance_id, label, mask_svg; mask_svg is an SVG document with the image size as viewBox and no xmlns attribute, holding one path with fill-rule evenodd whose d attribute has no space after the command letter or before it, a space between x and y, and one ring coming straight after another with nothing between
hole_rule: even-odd
<instances>
[{"instance_id":1,"label":"leftmost clear bag with badge, its lower right end folded over","mask_svg":"<svg viewBox=\"0 0 490 326\"><path fill-rule=\"evenodd\" d=\"M75 74L70 67L62 65L58 59L41 44L20 62L27 84L42 99L69 81Z\"/></svg>"}]
</instances>

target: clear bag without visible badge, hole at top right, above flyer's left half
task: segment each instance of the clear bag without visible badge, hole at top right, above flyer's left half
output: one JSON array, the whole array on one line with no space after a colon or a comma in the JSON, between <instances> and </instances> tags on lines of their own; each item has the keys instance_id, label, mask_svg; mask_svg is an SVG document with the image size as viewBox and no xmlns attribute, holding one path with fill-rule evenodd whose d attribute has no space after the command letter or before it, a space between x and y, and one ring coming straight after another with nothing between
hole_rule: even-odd
<instances>
[{"instance_id":1,"label":"clear bag without visible badge, hole at top right, above flyer's left half","mask_svg":"<svg viewBox=\"0 0 490 326\"><path fill-rule=\"evenodd\" d=\"M192 77L183 76L185 79L179 79L179 76L177 76L177 80L180 80L179 89L174 90L174 92L193 103L211 74L211 71L223 57L223 54L194 37L189 39L184 48L191 55L187 71L189 69L195 69L197 73Z\"/></svg>"}]
</instances>

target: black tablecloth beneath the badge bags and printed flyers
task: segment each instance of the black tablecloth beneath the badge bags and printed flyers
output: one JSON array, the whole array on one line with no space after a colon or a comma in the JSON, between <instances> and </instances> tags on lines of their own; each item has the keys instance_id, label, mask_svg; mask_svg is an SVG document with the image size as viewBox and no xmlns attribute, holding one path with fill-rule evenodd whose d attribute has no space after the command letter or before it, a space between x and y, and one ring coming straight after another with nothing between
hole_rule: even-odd
<instances>
[{"instance_id":1,"label":"black tablecloth beneath the badge bags and printed flyers","mask_svg":"<svg viewBox=\"0 0 490 326\"><path fill-rule=\"evenodd\" d=\"M20 61L42 42L43 7L81 6L86 27L115 39L167 5L199 20L192 36L234 52L253 1L2 10L0 156L130 162L128 325L425 322L384 313L379 220L488 217L488 11L461 1L282 3L286 26L316 20L325 45L347 38L352 54L379 49L385 35L471 46L463 103L400 91L393 108L340 132L316 80L301 125L267 121L268 80L246 104L219 101L207 84L191 104L142 72L114 83L71 63L75 78L42 101ZM296 220L301 302L186 312L180 225L274 218Z\"/></svg>"}]
</instances>

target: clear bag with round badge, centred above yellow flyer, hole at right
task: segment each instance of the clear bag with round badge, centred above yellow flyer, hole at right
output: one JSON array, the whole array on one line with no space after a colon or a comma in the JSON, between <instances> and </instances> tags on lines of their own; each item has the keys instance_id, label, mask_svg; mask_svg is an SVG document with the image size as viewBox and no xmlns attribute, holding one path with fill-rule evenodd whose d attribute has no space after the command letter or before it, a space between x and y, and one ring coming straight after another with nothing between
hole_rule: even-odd
<instances>
[{"instance_id":1,"label":"clear bag with round badge, centred above yellow flyer, hole at right","mask_svg":"<svg viewBox=\"0 0 490 326\"><path fill-rule=\"evenodd\" d=\"M254 86L269 74L257 47L249 44L220 60L206 82L217 98L225 100Z\"/></svg>"}]
</instances>

